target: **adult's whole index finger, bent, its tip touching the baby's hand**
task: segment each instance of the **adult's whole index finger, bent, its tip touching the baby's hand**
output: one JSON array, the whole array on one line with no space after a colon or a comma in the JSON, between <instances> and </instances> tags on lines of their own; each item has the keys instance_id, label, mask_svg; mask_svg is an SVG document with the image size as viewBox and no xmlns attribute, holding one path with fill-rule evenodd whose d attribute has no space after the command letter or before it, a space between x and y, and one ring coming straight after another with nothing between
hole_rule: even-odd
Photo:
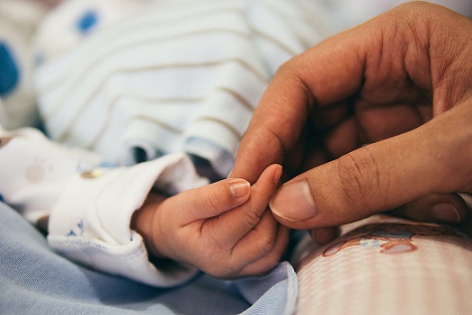
<instances>
[{"instance_id":1,"label":"adult's whole index finger, bent, its tip touching the baby's hand","mask_svg":"<svg viewBox=\"0 0 472 315\"><path fill-rule=\"evenodd\" d=\"M408 23L399 27L399 21L414 20L411 9L399 8L343 31L282 65L241 140L231 176L253 183L266 166L281 163L316 106L347 106L343 101L352 95L369 103L394 103L405 93L417 97L416 85L431 93L427 42L421 42L427 39ZM406 50L414 56L408 66L421 74L414 75L414 85L405 73ZM361 89L365 92L359 94Z\"/></svg>"}]
</instances>

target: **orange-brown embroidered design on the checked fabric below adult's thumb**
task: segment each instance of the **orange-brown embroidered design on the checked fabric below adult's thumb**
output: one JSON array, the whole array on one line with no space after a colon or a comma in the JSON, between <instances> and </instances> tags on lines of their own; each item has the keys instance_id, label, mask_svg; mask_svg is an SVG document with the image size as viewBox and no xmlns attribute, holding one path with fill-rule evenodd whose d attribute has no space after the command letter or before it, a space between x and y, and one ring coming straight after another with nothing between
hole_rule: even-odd
<instances>
[{"instance_id":1,"label":"orange-brown embroidered design on the checked fabric below adult's thumb","mask_svg":"<svg viewBox=\"0 0 472 315\"><path fill-rule=\"evenodd\" d=\"M349 247L378 247L380 254L413 252L415 236L439 236L467 238L455 229L438 225L414 225L403 223L368 224L347 233L342 240L327 247L323 257L331 257Z\"/></svg>"}]
</instances>

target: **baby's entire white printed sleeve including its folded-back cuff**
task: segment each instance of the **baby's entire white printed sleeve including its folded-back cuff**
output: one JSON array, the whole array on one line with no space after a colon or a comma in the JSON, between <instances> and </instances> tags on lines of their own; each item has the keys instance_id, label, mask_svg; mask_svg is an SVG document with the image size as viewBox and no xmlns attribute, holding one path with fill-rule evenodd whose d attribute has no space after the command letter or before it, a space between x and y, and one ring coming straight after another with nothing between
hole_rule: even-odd
<instances>
[{"instance_id":1,"label":"baby's entire white printed sleeve including its folded-back cuff","mask_svg":"<svg viewBox=\"0 0 472 315\"><path fill-rule=\"evenodd\" d=\"M97 154L50 141L39 130L0 127L0 179L0 201L33 224L49 217L49 245L78 264L163 287L198 272L152 265L143 238L129 228L153 187L178 193L208 183L184 154L106 167Z\"/></svg>"}]
</instances>

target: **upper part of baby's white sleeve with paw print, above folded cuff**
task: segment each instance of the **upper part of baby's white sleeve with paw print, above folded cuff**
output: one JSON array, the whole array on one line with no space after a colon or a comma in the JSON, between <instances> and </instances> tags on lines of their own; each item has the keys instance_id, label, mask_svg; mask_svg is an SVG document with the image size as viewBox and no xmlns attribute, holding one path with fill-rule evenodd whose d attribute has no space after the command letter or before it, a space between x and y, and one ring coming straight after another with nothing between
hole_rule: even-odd
<instances>
[{"instance_id":1,"label":"upper part of baby's white sleeve with paw print, above folded cuff","mask_svg":"<svg viewBox=\"0 0 472 315\"><path fill-rule=\"evenodd\" d=\"M50 141L40 130L6 131L0 127L0 201L35 224L49 216L78 170L100 160L93 152Z\"/></svg>"}]
</instances>

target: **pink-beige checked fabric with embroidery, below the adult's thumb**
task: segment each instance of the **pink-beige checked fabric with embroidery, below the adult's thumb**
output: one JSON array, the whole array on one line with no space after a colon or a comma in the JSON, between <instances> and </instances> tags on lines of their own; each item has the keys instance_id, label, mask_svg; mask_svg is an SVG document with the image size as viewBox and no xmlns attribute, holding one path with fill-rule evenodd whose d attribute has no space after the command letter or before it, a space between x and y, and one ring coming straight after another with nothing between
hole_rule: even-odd
<instances>
[{"instance_id":1,"label":"pink-beige checked fabric with embroidery, below the adult's thumb","mask_svg":"<svg viewBox=\"0 0 472 315\"><path fill-rule=\"evenodd\" d=\"M332 256L313 248L298 269L297 314L469 314L472 238L405 222L371 219Z\"/></svg>"}]
</instances>

